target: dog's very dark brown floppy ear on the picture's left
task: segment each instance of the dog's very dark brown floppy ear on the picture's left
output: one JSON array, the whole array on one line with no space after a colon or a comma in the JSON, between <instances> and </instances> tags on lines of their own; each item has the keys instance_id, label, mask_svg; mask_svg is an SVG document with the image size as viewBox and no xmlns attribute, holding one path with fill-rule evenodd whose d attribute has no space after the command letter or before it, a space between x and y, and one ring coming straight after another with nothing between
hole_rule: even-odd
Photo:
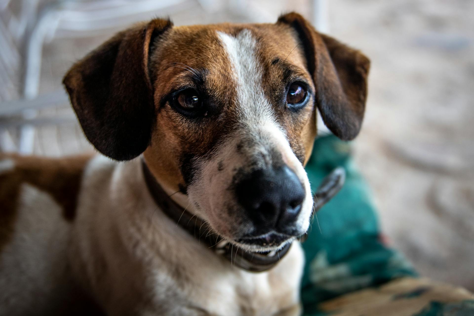
<instances>
[{"instance_id":1,"label":"dog's very dark brown floppy ear on the picture's left","mask_svg":"<svg viewBox=\"0 0 474 316\"><path fill-rule=\"evenodd\" d=\"M82 130L100 153L130 160L148 146L155 125L149 47L171 27L170 20L154 19L120 32L64 76Z\"/></svg>"}]
</instances>

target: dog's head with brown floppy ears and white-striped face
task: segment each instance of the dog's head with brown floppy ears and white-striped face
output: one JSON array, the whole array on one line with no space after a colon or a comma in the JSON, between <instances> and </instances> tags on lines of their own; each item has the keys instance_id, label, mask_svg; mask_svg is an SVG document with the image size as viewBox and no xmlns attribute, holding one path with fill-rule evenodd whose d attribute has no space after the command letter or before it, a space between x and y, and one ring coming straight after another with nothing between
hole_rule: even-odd
<instances>
[{"instance_id":1,"label":"dog's head with brown floppy ears and white-striped face","mask_svg":"<svg viewBox=\"0 0 474 316\"><path fill-rule=\"evenodd\" d=\"M103 154L144 153L165 187L231 242L278 249L309 226L303 169L317 108L344 140L359 132L369 60L296 13L275 24L118 33L64 78L85 135Z\"/></svg>"}]
</instances>

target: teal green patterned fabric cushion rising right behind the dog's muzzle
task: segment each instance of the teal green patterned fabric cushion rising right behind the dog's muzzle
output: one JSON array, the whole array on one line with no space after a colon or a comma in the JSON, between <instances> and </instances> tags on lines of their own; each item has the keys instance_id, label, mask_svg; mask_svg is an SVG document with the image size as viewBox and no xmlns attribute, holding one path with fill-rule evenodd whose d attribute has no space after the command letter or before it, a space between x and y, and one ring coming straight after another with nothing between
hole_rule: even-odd
<instances>
[{"instance_id":1,"label":"teal green patterned fabric cushion rising right behind the dog's muzzle","mask_svg":"<svg viewBox=\"0 0 474 316\"><path fill-rule=\"evenodd\" d=\"M346 170L342 190L313 218L303 243L301 283L304 315L324 315L318 304L357 289L416 272L403 256L383 244L370 190L351 158L351 144L334 135L319 137L306 165L311 189L336 167Z\"/></svg>"}]
</instances>

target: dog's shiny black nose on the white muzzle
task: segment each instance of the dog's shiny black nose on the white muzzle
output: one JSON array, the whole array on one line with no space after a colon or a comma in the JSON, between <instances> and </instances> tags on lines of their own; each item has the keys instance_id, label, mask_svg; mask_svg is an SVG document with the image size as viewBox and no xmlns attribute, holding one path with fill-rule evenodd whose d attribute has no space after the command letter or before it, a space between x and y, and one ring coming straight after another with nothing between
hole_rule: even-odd
<instances>
[{"instance_id":1,"label":"dog's shiny black nose on the white muzzle","mask_svg":"<svg viewBox=\"0 0 474 316\"><path fill-rule=\"evenodd\" d=\"M252 172L240 181L236 193L261 234L294 224L305 197L300 180L287 166Z\"/></svg>"}]
</instances>

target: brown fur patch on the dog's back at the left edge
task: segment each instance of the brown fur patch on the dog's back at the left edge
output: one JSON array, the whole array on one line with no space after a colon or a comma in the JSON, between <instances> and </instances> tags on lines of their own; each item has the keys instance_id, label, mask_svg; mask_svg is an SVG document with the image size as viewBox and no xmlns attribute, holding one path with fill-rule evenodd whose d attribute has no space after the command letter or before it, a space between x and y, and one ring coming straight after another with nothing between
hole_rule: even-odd
<instances>
[{"instance_id":1,"label":"brown fur patch on the dog's back at the left edge","mask_svg":"<svg viewBox=\"0 0 474 316\"><path fill-rule=\"evenodd\" d=\"M85 164L91 155L40 158L1 154L0 161L12 160L14 168L0 173L0 251L14 232L21 185L28 183L51 194L72 221Z\"/></svg>"}]
</instances>

